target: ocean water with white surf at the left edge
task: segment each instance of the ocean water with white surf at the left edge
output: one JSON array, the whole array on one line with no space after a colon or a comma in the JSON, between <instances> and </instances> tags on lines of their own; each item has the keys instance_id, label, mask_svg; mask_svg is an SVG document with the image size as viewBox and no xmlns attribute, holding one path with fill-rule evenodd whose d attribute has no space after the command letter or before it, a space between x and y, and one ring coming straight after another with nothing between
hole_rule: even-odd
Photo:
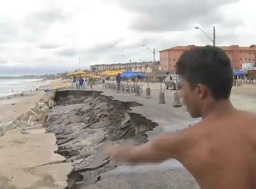
<instances>
[{"instance_id":1,"label":"ocean water with white surf at the left edge","mask_svg":"<svg viewBox=\"0 0 256 189\"><path fill-rule=\"evenodd\" d=\"M42 79L0 77L0 97L22 93L22 91L28 93L30 89L35 91L37 87L40 87L41 83Z\"/></svg>"}]
</instances>

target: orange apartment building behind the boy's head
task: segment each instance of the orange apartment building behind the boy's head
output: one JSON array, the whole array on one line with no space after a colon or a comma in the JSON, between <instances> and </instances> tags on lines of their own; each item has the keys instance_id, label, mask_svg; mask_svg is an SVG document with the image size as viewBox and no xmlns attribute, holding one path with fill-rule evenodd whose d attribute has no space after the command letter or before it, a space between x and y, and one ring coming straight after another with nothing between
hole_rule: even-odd
<instances>
[{"instance_id":1,"label":"orange apartment building behind the boy's head","mask_svg":"<svg viewBox=\"0 0 256 189\"><path fill-rule=\"evenodd\" d=\"M175 71L176 63L184 51L194 48L195 45L176 46L160 52L160 66L163 71ZM231 45L220 47L231 60L233 69L250 69L256 65L256 45L239 47ZM249 66L248 66L249 65Z\"/></svg>"}]
</instances>

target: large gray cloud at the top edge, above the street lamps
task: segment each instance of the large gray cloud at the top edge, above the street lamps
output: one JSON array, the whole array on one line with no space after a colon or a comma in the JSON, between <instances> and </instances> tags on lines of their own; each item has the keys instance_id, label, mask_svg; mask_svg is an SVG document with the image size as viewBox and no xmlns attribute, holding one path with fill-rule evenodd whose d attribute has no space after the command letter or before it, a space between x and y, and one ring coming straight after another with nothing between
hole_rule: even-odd
<instances>
[{"instance_id":1,"label":"large gray cloud at the top edge, above the street lamps","mask_svg":"<svg viewBox=\"0 0 256 189\"><path fill-rule=\"evenodd\" d=\"M180 31L194 24L204 26L220 23L217 9L238 0L120 0L119 5L136 16L130 28L138 31Z\"/></svg>"}]
</instances>

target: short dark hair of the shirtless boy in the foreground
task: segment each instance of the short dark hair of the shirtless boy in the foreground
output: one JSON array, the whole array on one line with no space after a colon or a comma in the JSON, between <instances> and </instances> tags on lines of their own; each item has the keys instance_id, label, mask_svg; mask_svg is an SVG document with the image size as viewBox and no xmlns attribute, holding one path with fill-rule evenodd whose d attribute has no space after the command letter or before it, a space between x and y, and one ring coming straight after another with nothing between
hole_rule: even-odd
<instances>
[{"instance_id":1,"label":"short dark hair of the shirtless boy in the foreground","mask_svg":"<svg viewBox=\"0 0 256 189\"><path fill-rule=\"evenodd\" d=\"M176 64L176 73L184 77L192 88L199 83L208 87L216 100L230 96L233 70L230 59L218 47L195 47L184 52Z\"/></svg>"}]
</instances>

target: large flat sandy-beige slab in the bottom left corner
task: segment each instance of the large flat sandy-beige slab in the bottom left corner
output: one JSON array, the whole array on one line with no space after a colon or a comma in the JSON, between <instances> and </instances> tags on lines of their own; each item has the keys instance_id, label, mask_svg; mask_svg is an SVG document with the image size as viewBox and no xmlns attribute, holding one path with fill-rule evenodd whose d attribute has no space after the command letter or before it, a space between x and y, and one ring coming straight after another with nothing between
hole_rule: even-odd
<instances>
[{"instance_id":1,"label":"large flat sandy-beige slab in the bottom left corner","mask_svg":"<svg viewBox=\"0 0 256 189\"><path fill-rule=\"evenodd\" d=\"M0 138L0 177L9 181L3 188L10 183L15 189L66 187L72 164L62 163L65 158L54 154L56 138L53 133L44 132L44 128L28 134L12 130Z\"/></svg>"}]
</instances>

